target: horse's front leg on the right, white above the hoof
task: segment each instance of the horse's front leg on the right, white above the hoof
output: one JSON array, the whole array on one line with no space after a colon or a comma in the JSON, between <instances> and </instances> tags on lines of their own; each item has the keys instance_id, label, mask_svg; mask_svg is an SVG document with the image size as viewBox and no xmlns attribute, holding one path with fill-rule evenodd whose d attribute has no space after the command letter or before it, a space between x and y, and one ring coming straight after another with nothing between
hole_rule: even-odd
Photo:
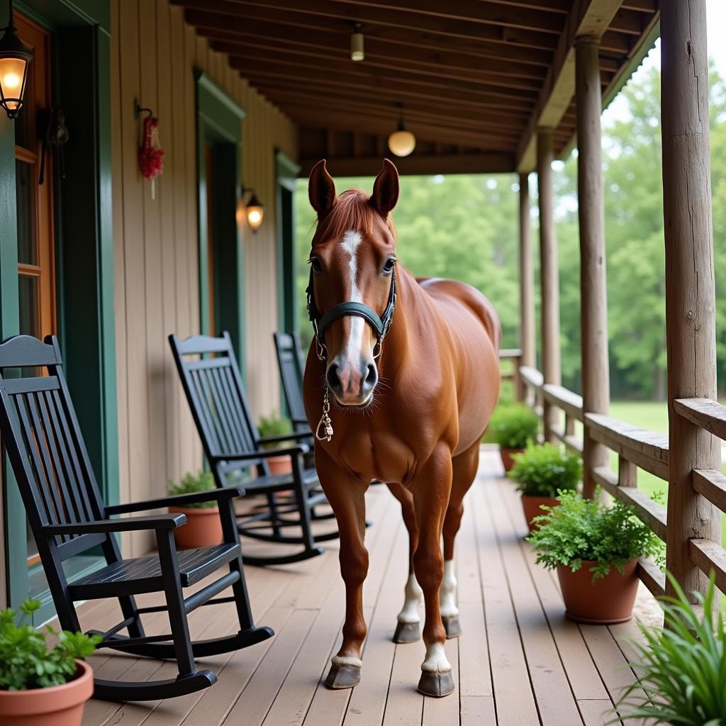
<instances>
[{"instance_id":1,"label":"horse's front leg on the right, white above the hoof","mask_svg":"<svg viewBox=\"0 0 726 726\"><path fill-rule=\"evenodd\" d=\"M441 528L452 486L451 452L441 446L420 468L411 483L419 536L413 566L426 608L423 641L426 656L421 664L418 690L426 696L448 696L454 692L452 666L446 659L446 631L441 623L439 588L444 576Z\"/></svg>"}]
</instances>

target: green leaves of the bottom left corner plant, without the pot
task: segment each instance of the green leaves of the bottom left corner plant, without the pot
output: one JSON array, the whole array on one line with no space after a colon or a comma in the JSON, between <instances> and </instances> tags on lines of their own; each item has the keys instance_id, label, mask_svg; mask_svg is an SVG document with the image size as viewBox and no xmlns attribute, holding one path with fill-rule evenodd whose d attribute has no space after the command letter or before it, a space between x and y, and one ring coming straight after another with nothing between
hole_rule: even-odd
<instances>
[{"instance_id":1,"label":"green leaves of the bottom left corner plant, without the pot","mask_svg":"<svg viewBox=\"0 0 726 726\"><path fill-rule=\"evenodd\" d=\"M99 635L59 632L46 625L44 634L30 623L40 608L39 600L25 600L20 616L12 608L0 611L0 690L49 688L73 680L78 672L76 658L86 658L101 642ZM48 648L46 634L58 638Z\"/></svg>"}]
</instances>

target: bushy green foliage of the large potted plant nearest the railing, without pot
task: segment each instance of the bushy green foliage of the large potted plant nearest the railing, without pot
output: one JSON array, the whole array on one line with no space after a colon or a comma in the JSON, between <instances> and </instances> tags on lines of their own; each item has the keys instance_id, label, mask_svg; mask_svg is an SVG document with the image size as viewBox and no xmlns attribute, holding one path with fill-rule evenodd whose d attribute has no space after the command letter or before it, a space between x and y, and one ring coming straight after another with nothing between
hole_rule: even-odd
<instances>
[{"instance_id":1,"label":"bushy green foliage of the large potted plant nearest the railing, without pot","mask_svg":"<svg viewBox=\"0 0 726 726\"><path fill-rule=\"evenodd\" d=\"M621 499L603 502L599 489L592 499L577 492L560 492L557 499L559 506L542 507L545 513L534 519L539 529L527 538L537 564L548 570L564 565L576 572L583 561L592 561L595 582L612 567L624 572L635 558L660 557L661 541Z\"/></svg>"}]
</instances>

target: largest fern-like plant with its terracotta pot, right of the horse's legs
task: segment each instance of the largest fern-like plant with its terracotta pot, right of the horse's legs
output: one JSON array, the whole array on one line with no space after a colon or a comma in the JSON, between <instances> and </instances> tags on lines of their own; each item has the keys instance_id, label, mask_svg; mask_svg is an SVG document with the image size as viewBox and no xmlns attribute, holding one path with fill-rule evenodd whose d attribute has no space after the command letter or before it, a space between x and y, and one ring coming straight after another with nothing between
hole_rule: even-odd
<instances>
[{"instance_id":1,"label":"largest fern-like plant with its terracotta pot, right of the horse's legs","mask_svg":"<svg viewBox=\"0 0 726 726\"><path fill-rule=\"evenodd\" d=\"M621 499L605 502L600 490L585 499L560 492L544 507L529 536L537 563L556 570L566 614L584 623L621 623L632 617L641 557L659 557L661 542Z\"/></svg>"}]
</instances>

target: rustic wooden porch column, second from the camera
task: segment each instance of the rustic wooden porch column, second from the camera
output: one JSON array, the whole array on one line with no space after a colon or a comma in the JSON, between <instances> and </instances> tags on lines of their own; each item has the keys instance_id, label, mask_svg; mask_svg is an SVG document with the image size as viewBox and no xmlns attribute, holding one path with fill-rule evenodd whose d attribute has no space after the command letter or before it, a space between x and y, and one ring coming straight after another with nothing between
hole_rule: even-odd
<instances>
[{"instance_id":1,"label":"rustic wooden porch column, second from the camera","mask_svg":"<svg viewBox=\"0 0 726 726\"><path fill-rule=\"evenodd\" d=\"M608 291L605 286L605 200L600 115L600 58L597 38L578 38L575 49L577 105L577 198L580 232L580 321L582 407L607 413L610 404L608 364ZM584 431L583 489L595 492L592 470L608 464L608 449Z\"/></svg>"}]
</instances>

